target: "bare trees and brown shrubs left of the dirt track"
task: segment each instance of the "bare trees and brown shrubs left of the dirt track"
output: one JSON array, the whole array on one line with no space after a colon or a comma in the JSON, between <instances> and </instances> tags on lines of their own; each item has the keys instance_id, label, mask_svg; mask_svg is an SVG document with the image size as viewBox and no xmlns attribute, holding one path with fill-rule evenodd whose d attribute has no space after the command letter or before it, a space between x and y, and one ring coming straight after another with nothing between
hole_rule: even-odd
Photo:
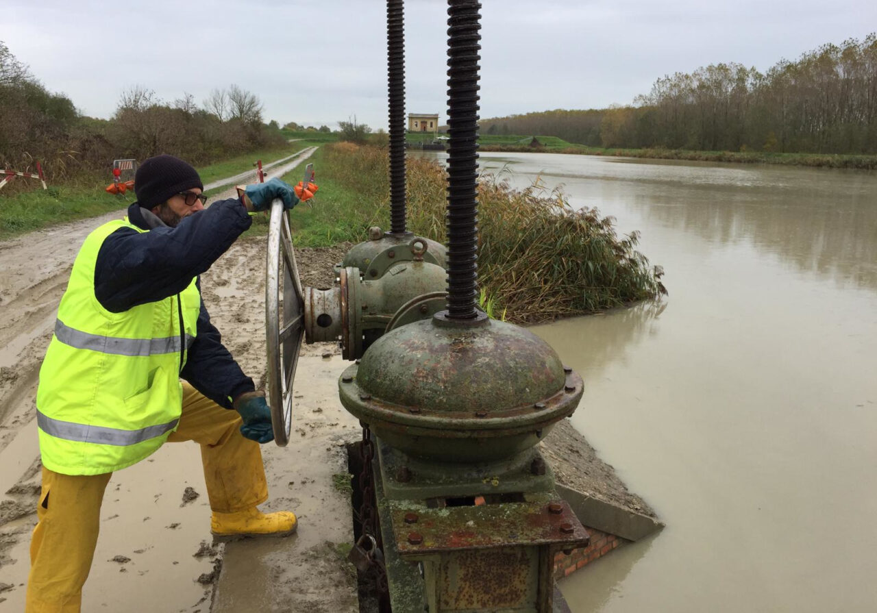
<instances>
[{"instance_id":1,"label":"bare trees and brown shrubs left of the dirt track","mask_svg":"<svg viewBox=\"0 0 877 613\"><path fill-rule=\"evenodd\" d=\"M160 100L142 86L126 89L110 119L85 117L50 92L0 41L0 168L42 163L50 181L106 174L112 160L173 153L198 166L282 145L276 122L264 124L258 96L237 85L213 89L201 104L184 93Z\"/></svg>"}]
</instances>

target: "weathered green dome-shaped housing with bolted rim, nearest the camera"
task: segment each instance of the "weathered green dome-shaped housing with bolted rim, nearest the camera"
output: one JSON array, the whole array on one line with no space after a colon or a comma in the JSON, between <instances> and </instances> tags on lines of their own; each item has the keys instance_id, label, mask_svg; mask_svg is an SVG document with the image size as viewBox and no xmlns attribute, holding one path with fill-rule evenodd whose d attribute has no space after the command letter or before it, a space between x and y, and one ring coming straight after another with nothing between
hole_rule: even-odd
<instances>
[{"instance_id":1,"label":"weathered green dome-shaped housing with bolted rim, nearest the camera","mask_svg":"<svg viewBox=\"0 0 877 613\"><path fill-rule=\"evenodd\" d=\"M544 340L445 313L389 331L342 374L341 403L378 437L424 460L502 460L573 413L581 377Z\"/></svg>"}]
</instances>

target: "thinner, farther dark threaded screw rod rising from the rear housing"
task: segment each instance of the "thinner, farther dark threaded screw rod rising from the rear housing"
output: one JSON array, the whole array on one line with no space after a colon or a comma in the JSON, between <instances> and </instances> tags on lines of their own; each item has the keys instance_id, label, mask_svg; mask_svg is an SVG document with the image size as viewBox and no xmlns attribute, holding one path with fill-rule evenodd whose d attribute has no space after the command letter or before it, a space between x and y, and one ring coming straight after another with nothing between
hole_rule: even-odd
<instances>
[{"instance_id":1,"label":"thinner, farther dark threaded screw rod rising from the rear housing","mask_svg":"<svg viewBox=\"0 0 877 613\"><path fill-rule=\"evenodd\" d=\"M403 0L387 0L389 89L389 225L405 233L405 15Z\"/></svg>"}]
</instances>

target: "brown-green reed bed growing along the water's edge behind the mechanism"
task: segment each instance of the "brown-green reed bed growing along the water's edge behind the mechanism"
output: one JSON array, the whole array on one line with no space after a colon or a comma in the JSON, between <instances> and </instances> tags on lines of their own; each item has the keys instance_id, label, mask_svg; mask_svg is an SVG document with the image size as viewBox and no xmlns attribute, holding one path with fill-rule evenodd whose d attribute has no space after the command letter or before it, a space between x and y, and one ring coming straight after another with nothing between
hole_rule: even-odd
<instances>
[{"instance_id":1,"label":"brown-green reed bed growing along the water's edge behind the mechanism","mask_svg":"<svg viewBox=\"0 0 877 613\"><path fill-rule=\"evenodd\" d=\"M326 147L324 162L324 176L355 187L360 203L389 218L386 150L340 143ZM417 158L406 166L409 230L445 242L445 168ZM612 217L572 210L558 191L482 179L478 217L481 300L509 321L583 315L667 293L660 267L635 248L637 232L619 237Z\"/></svg>"}]
</instances>

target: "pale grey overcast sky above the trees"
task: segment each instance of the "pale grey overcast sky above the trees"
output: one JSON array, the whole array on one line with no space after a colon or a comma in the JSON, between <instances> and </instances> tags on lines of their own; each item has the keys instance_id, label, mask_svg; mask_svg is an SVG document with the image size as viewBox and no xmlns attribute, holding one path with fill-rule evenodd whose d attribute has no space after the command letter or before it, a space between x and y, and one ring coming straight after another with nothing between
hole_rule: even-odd
<instances>
[{"instance_id":1,"label":"pale grey overcast sky above the trees","mask_svg":"<svg viewBox=\"0 0 877 613\"><path fill-rule=\"evenodd\" d=\"M232 83L281 124L387 126L381 0L4 0L0 40L83 113L123 90L202 102ZM446 118L446 2L405 3L406 112ZM766 70L877 30L877 0L482 0L482 118L631 103L660 76ZM2 128L0 128L2 129Z\"/></svg>"}]
</instances>

